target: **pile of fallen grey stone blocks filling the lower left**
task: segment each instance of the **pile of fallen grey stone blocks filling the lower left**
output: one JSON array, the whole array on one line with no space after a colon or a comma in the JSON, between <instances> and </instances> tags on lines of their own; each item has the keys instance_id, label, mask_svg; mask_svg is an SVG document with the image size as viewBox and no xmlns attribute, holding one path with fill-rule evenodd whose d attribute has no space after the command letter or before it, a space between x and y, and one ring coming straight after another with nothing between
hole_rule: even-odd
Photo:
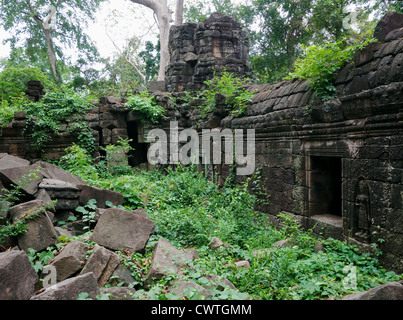
<instances>
[{"instance_id":1,"label":"pile of fallen grey stone blocks filling the lower left","mask_svg":"<svg viewBox=\"0 0 403 320\"><path fill-rule=\"evenodd\" d=\"M7 204L4 195L13 186L19 186L22 197L18 203ZM29 213L36 212L27 221L26 232L10 237L0 243L0 300L76 300L80 293L96 299L101 293L109 299L132 299L135 289L129 287L135 279L123 266L118 251L141 252L146 247L155 225L144 209L132 212L108 208L122 205L123 196L114 191L87 185L83 180L47 162L29 161L9 154L0 154L0 189L3 218L15 222ZM96 199L96 222L92 234L87 237L96 243L87 245L79 240L70 240L49 261L44 270L54 270L56 283L44 285L39 274L29 261L29 250L46 250L58 243L61 237L73 237L85 233L82 220L69 222L75 209ZM56 202L54 202L56 200ZM4 219L0 220L2 223ZM63 228L58 222L64 221ZM144 289L155 281L171 274L181 274L182 269L198 258L195 249L179 250L166 239L160 238L155 245L152 262L144 281ZM210 282L207 288L236 290L225 278L206 275ZM123 282L123 287L118 287ZM103 288L108 284L107 288ZM109 287L109 285L114 285ZM211 292L195 282L178 279L168 289L177 296L183 296L188 288L196 290L199 296L209 298Z\"/></svg>"}]
</instances>

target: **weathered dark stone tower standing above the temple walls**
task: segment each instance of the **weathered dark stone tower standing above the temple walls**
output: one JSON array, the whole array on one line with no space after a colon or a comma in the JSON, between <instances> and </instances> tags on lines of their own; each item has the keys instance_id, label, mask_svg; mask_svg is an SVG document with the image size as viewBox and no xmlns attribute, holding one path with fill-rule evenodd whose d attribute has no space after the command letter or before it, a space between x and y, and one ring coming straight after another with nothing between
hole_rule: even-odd
<instances>
[{"instance_id":1,"label":"weathered dark stone tower standing above the temple walls","mask_svg":"<svg viewBox=\"0 0 403 320\"><path fill-rule=\"evenodd\" d=\"M172 26L170 63L165 83L169 92L204 88L204 81L222 68L251 77L248 32L232 16L213 13L203 23Z\"/></svg>"}]
</instances>

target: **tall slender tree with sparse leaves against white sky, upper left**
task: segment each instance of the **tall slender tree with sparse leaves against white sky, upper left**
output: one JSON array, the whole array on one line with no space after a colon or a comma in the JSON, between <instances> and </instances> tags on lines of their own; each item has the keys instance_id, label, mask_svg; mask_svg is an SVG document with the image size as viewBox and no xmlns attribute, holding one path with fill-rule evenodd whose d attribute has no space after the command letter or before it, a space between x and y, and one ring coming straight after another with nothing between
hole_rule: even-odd
<instances>
[{"instance_id":1,"label":"tall slender tree with sparse leaves against white sky, upper left","mask_svg":"<svg viewBox=\"0 0 403 320\"><path fill-rule=\"evenodd\" d=\"M61 81L57 59L64 59L62 44L75 47L89 61L97 55L95 46L83 32L88 20L103 0L19 0L2 1L0 21L12 36L5 39L11 49L25 39L24 46L33 58L46 52L56 83ZM57 43L56 43L57 42Z\"/></svg>"}]
</instances>

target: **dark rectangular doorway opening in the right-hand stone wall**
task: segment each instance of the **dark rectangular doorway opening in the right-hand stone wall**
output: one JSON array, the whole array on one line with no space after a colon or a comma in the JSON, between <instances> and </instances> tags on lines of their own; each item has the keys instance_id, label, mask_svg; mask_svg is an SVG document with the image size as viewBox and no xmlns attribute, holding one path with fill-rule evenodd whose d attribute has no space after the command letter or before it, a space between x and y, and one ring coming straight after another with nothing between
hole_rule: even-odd
<instances>
[{"instance_id":1,"label":"dark rectangular doorway opening in the right-hand stone wall","mask_svg":"<svg viewBox=\"0 0 403 320\"><path fill-rule=\"evenodd\" d=\"M311 157L309 211L311 215L342 215L341 158Z\"/></svg>"}]
</instances>

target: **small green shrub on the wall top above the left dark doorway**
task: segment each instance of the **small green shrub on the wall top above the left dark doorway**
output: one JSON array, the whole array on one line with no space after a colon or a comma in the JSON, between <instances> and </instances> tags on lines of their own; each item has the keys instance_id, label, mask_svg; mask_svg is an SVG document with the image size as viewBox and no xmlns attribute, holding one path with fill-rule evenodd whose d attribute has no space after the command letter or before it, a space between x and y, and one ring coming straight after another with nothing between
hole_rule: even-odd
<instances>
[{"instance_id":1,"label":"small green shrub on the wall top above the left dark doorway","mask_svg":"<svg viewBox=\"0 0 403 320\"><path fill-rule=\"evenodd\" d=\"M165 112L165 109L157 103L155 97L150 95L147 90L130 96L125 106L131 111L139 112L142 122L151 121L157 123Z\"/></svg>"}]
</instances>

